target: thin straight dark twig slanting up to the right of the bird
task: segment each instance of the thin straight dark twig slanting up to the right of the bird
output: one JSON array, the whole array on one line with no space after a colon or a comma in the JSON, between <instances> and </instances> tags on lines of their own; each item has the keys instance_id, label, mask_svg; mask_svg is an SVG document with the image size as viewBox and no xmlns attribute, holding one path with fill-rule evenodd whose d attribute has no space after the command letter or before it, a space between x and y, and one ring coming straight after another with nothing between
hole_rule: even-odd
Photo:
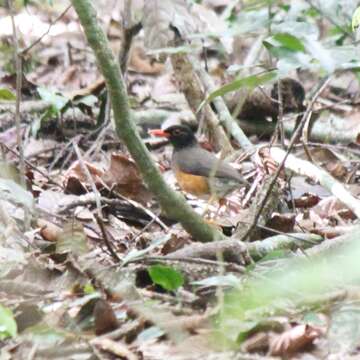
<instances>
[{"instance_id":1,"label":"thin straight dark twig slanting up to the right of the bird","mask_svg":"<svg viewBox=\"0 0 360 360\"><path fill-rule=\"evenodd\" d=\"M267 201L268 201L268 199L270 197L271 191L272 191L272 189L273 189L273 187L274 187L274 185L276 183L276 180L279 177L280 172L282 171L282 169L283 169L283 167L285 165L286 159L289 156L289 154L290 154L292 148L294 147L295 143L297 142L297 140L298 140L298 138L299 138L299 136L300 136L300 134L302 132L303 126L304 126L305 122L307 121L309 115L312 112L312 108L313 108L313 106L315 104L316 99L319 97L319 95L321 94L321 92L324 90L324 88L326 86L327 86L327 80L324 81L320 85L320 87L315 92L314 96L312 97L311 101L309 102L309 104L308 104L308 106L306 108L306 111L305 111L305 113L304 113L304 115L303 115L303 117L302 117L302 119L300 121L300 124L297 127L297 129L295 130L295 132L294 132L294 134L293 134L293 136L292 136L292 138L290 140L289 147L288 147L288 149L286 151L286 154L285 154L284 158L282 159L281 163L279 164L277 170L275 171L275 174L273 175L273 178L272 178L272 180L271 180L271 182L269 184L269 188L267 190L267 193L266 193L266 195L264 196L263 200L261 201L261 203L259 205L257 213L254 216L254 220L253 220L251 226L249 227L248 231L245 233L245 235L242 237L241 240L247 239L249 237L249 235L254 231L254 229L256 227L256 224L260 219L261 213L264 210L265 205L266 205L266 203L267 203Z\"/></svg>"}]
</instances>

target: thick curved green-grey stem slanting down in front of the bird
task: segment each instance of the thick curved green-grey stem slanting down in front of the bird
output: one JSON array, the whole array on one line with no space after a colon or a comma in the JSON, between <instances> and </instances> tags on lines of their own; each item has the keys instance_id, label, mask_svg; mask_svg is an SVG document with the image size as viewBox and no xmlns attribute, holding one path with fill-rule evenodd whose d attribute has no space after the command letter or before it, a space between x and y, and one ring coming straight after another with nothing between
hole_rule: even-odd
<instances>
[{"instance_id":1,"label":"thick curved green-grey stem slanting down in front of the bird","mask_svg":"<svg viewBox=\"0 0 360 360\"><path fill-rule=\"evenodd\" d=\"M212 241L222 234L203 222L186 203L163 180L151 160L132 121L128 97L119 64L109 47L109 42L96 20L96 11L90 0L72 0L89 45L93 49L99 68L104 76L114 111L116 131L136 161L149 189L155 194L166 214L182 224L199 241Z\"/></svg>"}]
</instances>

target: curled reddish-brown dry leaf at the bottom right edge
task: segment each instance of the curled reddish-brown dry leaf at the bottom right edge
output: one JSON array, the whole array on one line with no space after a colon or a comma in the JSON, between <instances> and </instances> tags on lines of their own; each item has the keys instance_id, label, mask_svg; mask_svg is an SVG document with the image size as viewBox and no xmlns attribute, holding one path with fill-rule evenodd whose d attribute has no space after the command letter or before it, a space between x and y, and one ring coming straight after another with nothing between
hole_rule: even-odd
<instances>
[{"instance_id":1,"label":"curled reddish-brown dry leaf at the bottom right edge","mask_svg":"<svg viewBox=\"0 0 360 360\"><path fill-rule=\"evenodd\" d=\"M284 356L303 350L323 335L323 330L311 325L297 325L282 334L270 337L270 354Z\"/></svg>"}]
</instances>

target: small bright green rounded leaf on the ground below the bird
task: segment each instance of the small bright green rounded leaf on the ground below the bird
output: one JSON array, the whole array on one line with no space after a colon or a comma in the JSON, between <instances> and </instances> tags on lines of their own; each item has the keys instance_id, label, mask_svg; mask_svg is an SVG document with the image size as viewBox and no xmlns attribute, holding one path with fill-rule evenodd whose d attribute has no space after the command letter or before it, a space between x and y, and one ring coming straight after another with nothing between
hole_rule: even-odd
<instances>
[{"instance_id":1,"label":"small bright green rounded leaf on the ground below the bird","mask_svg":"<svg viewBox=\"0 0 360 360\"><path fill-rule=\"evenodd\" d=\"M151 280L165 290L176 290L184 284L183 275L166 265L153 265L148 269Z\"/></svg>"}]
</instances>

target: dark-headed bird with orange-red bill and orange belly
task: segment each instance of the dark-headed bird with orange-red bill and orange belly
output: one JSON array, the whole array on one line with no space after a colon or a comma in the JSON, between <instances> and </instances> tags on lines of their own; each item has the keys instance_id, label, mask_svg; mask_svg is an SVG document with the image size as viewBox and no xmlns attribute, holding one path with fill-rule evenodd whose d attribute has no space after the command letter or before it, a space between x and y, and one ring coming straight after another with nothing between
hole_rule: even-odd
<instances>
[{"instance_id":1,"label":"dark-headed bird with orange-red bill and orange belly","mask_svg":"<svg viewBox=\"0 0 360 360\"><path fill-rule=\"evenodd\" d=\"M183 191L220 203L241 185L249 185L228 162L202 148L189 126L172 125L150 130L150 134L167 138L173 146L171 166Z\"/></svg>"}]
</instances>

